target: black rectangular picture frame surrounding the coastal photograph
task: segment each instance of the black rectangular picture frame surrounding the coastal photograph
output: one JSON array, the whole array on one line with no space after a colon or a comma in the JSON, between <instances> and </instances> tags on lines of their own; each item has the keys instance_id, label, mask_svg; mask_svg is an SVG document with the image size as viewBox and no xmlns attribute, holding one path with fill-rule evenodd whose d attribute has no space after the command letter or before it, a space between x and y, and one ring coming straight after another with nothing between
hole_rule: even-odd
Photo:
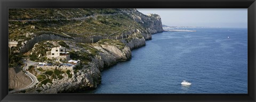
<instances>
[{"instance_id":1,"label":"black rectangular picture frame surrounding the coastal photograph","mask_svg":"<svg viewBox=\"0 0 256 102\"><path fill-rule=\"evenodd\" d=\"M255 101L255 0L1 0L1 101ZM248 94L8 94L8 8L247 8Z\"/></svg>"}]
</instances>

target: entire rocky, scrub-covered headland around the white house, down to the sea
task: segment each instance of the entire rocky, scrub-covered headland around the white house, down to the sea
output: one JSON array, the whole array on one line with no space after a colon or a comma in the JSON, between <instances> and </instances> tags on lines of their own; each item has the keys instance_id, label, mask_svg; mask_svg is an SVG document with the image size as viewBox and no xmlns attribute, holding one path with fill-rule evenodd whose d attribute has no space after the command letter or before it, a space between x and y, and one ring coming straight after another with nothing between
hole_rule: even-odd
<instances>
[{"instance_id":1,"label":"entire rocky, scrub-covered headland around the white house, down to the sea","mask_svg":"<svg viewBox=\"0 0 256 102\"><path fill-rule=\"evenodd\" d=\"M100 71L131 59L131 50L145 45L157 32L163 32L159 15L144 15L130 8L12 8L9 39L18 44L9 53L9 67L21 66L21 57L59 66L67 60L54 62L46 58L46 52L61 45L71 59L81 60L81 65L69 71L29 69L39 82L25 92L65 93L97 88Z\"/></svg>"}]
</instances>

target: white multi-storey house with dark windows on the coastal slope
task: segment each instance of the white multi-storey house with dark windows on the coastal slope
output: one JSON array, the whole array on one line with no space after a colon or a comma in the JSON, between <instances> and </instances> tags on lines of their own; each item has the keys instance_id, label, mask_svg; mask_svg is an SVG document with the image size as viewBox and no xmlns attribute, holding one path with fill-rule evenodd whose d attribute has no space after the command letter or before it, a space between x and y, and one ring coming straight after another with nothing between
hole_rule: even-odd
<instances>
[{"instance_id":1,"label":"white multi-storey house with dark windows on the coastal slope","mask_svg":"<svg viewBox=\"0 0 256 102\"><path fill-rule=\"evenodd\" d=\"M51 51L46 52L46 57L49 59L66 59L69 60L69 52L67 52L67 49L65 47L56 47L52 48Z\"/></svg>"}]
</instances>

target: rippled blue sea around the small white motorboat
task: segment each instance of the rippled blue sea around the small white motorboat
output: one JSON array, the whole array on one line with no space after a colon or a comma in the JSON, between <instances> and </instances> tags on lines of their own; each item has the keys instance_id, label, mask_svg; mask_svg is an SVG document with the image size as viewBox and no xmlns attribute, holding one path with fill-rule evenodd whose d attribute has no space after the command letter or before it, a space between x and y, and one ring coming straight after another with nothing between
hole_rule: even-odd
<instances>
[{"instance_id":1,"label":"rippled blue sea around the small white motorboat","mask_svg":"<svg viewBox=\"0 0 256 102\"><path fill-rule=\"evenodd\" d=\"M247 29L162 32L102 71L93 94L247 94ZM229 36L229 38L228 38ZM192 85L182 86L183 80Z\"/></svg>"}]
</instances>

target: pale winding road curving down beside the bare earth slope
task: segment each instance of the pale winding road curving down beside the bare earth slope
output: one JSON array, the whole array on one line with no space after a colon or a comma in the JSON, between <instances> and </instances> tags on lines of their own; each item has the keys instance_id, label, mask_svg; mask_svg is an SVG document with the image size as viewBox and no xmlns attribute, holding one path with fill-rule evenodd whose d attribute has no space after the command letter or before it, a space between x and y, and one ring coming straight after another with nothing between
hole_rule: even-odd
<instances>
[{"instance_id":1,"label":"pale winding road curving down beside the bare earth slope","mask_svg":"<svg viewBox=\"0 0 256 102\"><path fill-rule=\"evenodd\" d=\"M30 85L28 85L27 87L24 87L24 88L11 90L11 91L9 91L9 93L13 93L13 92L16 92L16 91L21 91L21 90L25 90L25 89L34 87L36 85L36 83L38 83L38 80L37 80L36 76L33 75L32 73L30 73L29 71L27 71L29 66L33 66L35 64L38 64L38 62L26 61L26 60L22 60L22 61L24 63L26 63L26 66L23 67L23 71L25 71L26 75L32 80L32 83Z\"/></svg>"}]
</instances>

